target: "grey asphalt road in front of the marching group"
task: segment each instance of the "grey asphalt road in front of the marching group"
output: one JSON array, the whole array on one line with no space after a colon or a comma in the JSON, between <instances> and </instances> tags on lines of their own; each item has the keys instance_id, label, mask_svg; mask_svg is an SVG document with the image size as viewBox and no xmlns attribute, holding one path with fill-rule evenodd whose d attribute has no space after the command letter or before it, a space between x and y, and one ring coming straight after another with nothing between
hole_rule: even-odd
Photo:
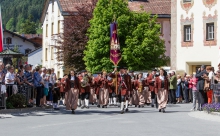
<instances>
[{"instance_id":1,"label":"grey asphalt road in front of the marching group","mask_svg":"<svg viewBox=\"0 0 220 136\"><path fill-rule=\"evenodd\" d=\"M41 111L3 115L0 136L208 136L220 135L220 116L190 112L191 104L168 105L166 113L155 108L119 108Z\"/></svg>"}]
</instances>

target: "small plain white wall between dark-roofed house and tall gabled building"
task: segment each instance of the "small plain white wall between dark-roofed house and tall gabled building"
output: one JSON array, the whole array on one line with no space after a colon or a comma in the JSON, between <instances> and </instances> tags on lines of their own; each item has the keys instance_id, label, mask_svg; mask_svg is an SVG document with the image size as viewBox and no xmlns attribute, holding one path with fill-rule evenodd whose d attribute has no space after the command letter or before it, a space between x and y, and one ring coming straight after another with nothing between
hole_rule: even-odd
<instances>
[{"instance_id":1,"label":"small plain white wall between dark-roofed house and tall gabled building","mask_svg":"<svg viewBox=\"0 0 220 136\"><path fill-rule=\"evenodd\" d=\"M28 63L33 66L42 65L42 48L28 54Z\"/></svg>"}]
</instances>

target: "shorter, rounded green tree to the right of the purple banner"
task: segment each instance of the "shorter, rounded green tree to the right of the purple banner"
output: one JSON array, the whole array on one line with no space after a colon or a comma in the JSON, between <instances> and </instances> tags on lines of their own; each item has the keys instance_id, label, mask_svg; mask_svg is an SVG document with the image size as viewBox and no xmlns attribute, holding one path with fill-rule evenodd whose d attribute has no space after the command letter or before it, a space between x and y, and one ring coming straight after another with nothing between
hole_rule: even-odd
<instances>
[{"instance_id":1,"label":"shorter, rounded green tree to the right of the purple banner","mask_svg":"<svg viewBox=\"0 0 220 136\"><path fill-rule=\"evenodd\" d=\"M160 38L160 25L146 12L133 13L130 16L132 26L126 35L126 48L123 48L123 60L132 70L149 70L167 63L165 44ZM129 22L127 22L129 23ZM127 24L125 23L125 24ZM134 26L135 25L135 26ZM124 26L125 27L125 26Z\"/></svg>"}]
</instances>

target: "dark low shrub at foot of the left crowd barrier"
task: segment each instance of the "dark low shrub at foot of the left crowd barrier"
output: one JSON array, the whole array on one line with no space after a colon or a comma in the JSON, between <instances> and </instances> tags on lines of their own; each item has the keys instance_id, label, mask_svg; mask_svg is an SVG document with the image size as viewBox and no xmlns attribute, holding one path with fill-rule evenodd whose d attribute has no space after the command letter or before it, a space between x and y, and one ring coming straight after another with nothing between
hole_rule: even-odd
<instances>
[{"instance_id":1,"label":"dark low shrub at foot of the left crowd barrier","mask_svg":"<svg viewBox=\"0 0 220 136\"><path fill-rule=\"evenodd\" d=\"M9 109L13 108L24 108L26 106L26 99L22 94L13 94L6 100L6 107Z\"/></svg>"}]
</instances>

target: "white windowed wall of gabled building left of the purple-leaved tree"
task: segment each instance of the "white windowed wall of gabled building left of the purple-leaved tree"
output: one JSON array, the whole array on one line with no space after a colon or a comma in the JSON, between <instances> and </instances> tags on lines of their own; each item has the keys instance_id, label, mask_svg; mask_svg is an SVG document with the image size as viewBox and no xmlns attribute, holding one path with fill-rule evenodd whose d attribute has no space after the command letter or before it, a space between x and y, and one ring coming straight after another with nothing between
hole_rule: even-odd
<instances>
[{"instance_id":1,"label":"white windowed wall of gabled building left of the purple-leaved tree","mask_svg":"<svg viewBox=\"0 0 220 136\"><path fill-rule=\"evenodd\" d=\"M42 50L42 65L46 68L54 68L55 73L63 76L63 66L58 66L56 61L56 49L53 47L57 45L56 38L58 32L62 32L63 16L60 14L57 1L54 0L54 10L52 11L52 2L50 1L47 9L47 16L43 22L43 50ZM58 21L60 21L60 29L58 30ZM53 28L52 28L53 23ZM52 34L53 30L53 34Z\"/></svg>"}]
</instances>

